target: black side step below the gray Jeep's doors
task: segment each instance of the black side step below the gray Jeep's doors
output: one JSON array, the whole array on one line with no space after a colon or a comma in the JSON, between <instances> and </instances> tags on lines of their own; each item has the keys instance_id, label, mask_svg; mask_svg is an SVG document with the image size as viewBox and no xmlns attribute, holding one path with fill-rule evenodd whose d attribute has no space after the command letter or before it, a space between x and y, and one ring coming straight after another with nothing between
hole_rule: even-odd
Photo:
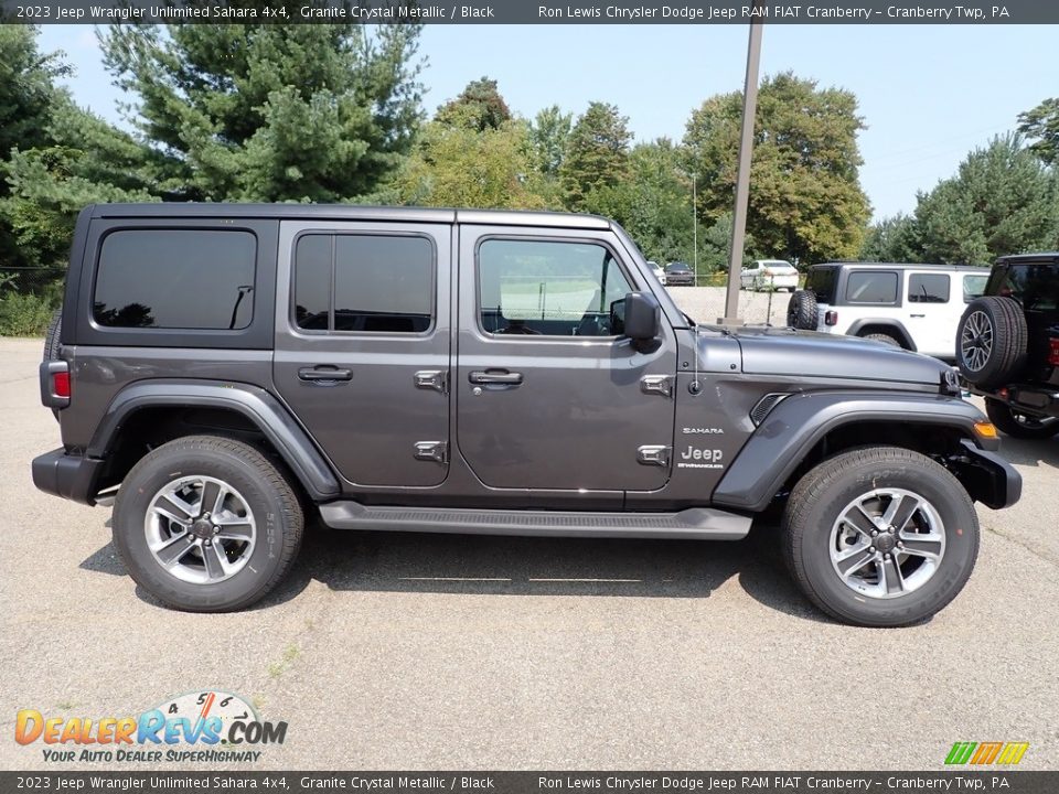
<instances>
[{"instance_id":1,"label":"black side step below the gray Jeep's doors","mask_svg":"<svg viewBox=\"0 0 1059 794\"><path fill-rule=\"evenodd\" d=\"M357 502L320 505L320 515L335 529L707 540L739 540L750 532L753 521L712 507L689 507L678 513L587 513L372 507Z\"/></svg>"}]
</instances>

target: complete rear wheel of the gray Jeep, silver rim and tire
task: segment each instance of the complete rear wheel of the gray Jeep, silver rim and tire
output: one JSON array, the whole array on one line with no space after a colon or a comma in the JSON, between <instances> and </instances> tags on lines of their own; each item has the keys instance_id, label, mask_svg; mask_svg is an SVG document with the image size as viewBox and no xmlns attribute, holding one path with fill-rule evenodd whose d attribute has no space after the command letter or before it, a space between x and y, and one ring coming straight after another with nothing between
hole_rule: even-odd
<instances>
[{"instance_id":1,"label":"complete rear wheel of the gray Jeep, silver rim and tire","mask_svg":"<svg viewBox=\"0 0 1059 794\"><path fill-rule=\"evenodd\" d=\"M260 600L286 576L303 516L286 476L240 441L170 441L126 475L114 507L114 545L137 584L192 612Z\"/></svg>"}]
</instances>

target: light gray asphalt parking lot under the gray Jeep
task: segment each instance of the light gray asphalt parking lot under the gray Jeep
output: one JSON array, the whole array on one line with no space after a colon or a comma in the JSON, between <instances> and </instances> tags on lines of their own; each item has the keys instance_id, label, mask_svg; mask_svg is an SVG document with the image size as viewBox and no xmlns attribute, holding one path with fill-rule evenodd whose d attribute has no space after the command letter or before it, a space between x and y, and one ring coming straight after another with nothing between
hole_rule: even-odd
<instances>
[{"instance_id":1,"label":"light gray asphalt parking lot under the gray Jeep","mask_svg":"<svg viewBox=\"0 0 1059 794\"><path fill-rule=\"evenodd\" d=\"M40 351L0 340L2 769L44 765L21 708L208 687L289 723L255 769L938 770L955 741L1059 768L1059 441L1005 440L1023 501L980 509L969 586L911 629L826 620L750 541L324 529L259 608L194 615L125 576L108 508L33 489Z\"/></svg>"}]
</instances>

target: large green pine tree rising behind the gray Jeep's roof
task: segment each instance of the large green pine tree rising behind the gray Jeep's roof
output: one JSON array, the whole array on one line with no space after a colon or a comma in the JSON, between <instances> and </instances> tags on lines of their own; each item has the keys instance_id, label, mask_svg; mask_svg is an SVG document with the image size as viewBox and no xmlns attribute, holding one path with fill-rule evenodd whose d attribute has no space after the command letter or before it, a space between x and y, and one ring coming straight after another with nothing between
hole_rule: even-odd
<instances>
[{"instance_id":1,"label":"large green pine tree rising behind the gray Jeep's roof","mask_svg":"<svg viewBox=\"0 0 1059 794\"><path fill-rule=\"evenodd\" d=\"M370 193L420 118L419 25L113 25L101 36L169 197Z\"/></svg>"}]
</instances>

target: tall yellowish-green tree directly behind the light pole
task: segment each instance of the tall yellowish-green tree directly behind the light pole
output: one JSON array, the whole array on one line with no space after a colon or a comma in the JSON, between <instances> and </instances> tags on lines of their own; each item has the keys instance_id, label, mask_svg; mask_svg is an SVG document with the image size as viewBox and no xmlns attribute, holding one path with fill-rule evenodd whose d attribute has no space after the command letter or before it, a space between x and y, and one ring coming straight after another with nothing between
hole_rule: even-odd
<instances>
[{"instance_id":1,"label":"tall yellowish-green tree directly behind the light pole","mask_svg":"<svg viewBox=\"0 0 1059 794\"><path fill-rule=\"evenodd\" d=\"M687 122L687 170L707 225L732 210L741 116L742 95L732 93L707 99ZM863 128L848 90L791 73L762 81L747 229L763 255L805 264L856 256L869 215L857 175Z\"/></svg>"}]
</instances>

